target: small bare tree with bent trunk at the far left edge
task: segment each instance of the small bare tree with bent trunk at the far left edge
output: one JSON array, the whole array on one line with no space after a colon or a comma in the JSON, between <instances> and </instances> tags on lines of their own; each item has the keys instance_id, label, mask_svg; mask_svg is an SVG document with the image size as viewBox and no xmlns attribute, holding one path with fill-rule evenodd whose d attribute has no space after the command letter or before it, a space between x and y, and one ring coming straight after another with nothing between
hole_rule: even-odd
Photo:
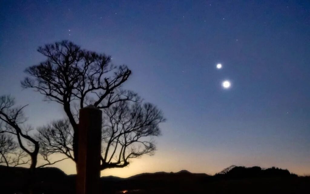
<instances>
[{"instance_id":1,"label":"small bare tree with bent trunk at the far left edge","mask_svg":"<svg viewBox=\"0 0 310 194\"><path fill-rule=\"evenodd\" d=\"M23 109L26 106L15 107L13 98L5 95L0 96L0 134L2 140L0 150L3 155L0 154L3 156L2 160L5 161L7 165L17 166L30 162L29 169L33 172L36 167L42 167L52 163L48 160L44 152L42 152L41 155L43 159L48 163L37 166L40 145L39 142L29 134L33 128L24 127L23 125L26 121ZM11 136L5 134L10 134ZM12 135L16 137L18 143L14 142ZM30 159L26 159L29 157Z\"/></svg>"}]
</instances>

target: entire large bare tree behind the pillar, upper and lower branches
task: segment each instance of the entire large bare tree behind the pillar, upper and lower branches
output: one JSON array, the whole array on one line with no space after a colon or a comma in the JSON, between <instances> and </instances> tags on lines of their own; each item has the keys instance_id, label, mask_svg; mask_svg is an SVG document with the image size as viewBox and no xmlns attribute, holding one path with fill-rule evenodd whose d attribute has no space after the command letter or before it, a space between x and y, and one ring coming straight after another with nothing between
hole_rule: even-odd
<instances>
[{"instance_id":1,"label":"entire large bare tree behind the pillar, upper and lower branches","mask_svg":"<svg viewBox=\"0 0 310 194\"><path fill-rule=\"evenodd\" d=\"M114 67L111 64L110 56L82 50L79 46L68 41L55 42L54 44L39 47L38 52L46 56L47 60L27 68L25 72L30 77L26 77L21 84L24 88L33 88L35 91L43 94L46 100L61 104L68 119L68 121L52 123L51 126L45 127L45 130L41 129L40 141L44 145L43 147L46 148L47 154L61 152L77 161L79 138L78 109L86 105L94 105L104 111L105 109L113 111L113 108L110 109L110 107L113 106L114 109L117 109L115 108L117 107L116 104L120 105L122 102L140 103L136 93L121 88L122 84L131 75L131 70L125 65ZM135 106L140 107L139 104ZM153 105L149 104L148 106L149 108L152 107L152 110L156 110L159 114L160 111L153 107ZM120 132L124 129L119 129L117 132L113 132L112 130L107 130L107 127L103 130L103 144L106 143L106 147L104 147L105 151L103 150L104 154L101 159L102 169L124 167L128 165L129 158L138 157L144 153L151 153L155 149L153 143L139 142L145 136L159 134L158 125L150 122L148 129L153 127L153 132L151 130L145 132L144 130L147 128L145 126L146 123L138 122L141 119L145 119L148 123L149 118L146 115L149 114L149 109L147 109L147 106L145 108L135 108L132 106L131 108L126 108L124 111L127 111L127 117L133 114L133 119L137 119L137 121L127 121L127 123L123 124L124 127L130 124L133 127L132 130ZM131 110L141 112L133 113ZM120 115L122 117L122 114ZM162 117L161 112L159 115ZM164 121L163 118L159 119L159 122L162 121ZM68 122L70 123L70 128L72 128L70 130L64 129L64 126L69 126ZM112 119L110 122L110 127L115 127L115 124L112 123L115 122L115 119ZM135 123L136 126L134 126ZM129 135L135 132L137 133L136 136L131 137ZM66 134L66 136L61 137L63 134ZM61 137L60 140L58 137ZM50 140L53 141L50 143ZM122 142L123 140L124 142ZM145 147L144 151L134 148L134 143L141 143ZM63 146L59 148L55 146L57 144ZM116 147L115 151L110 153L110 147L113 146ZM126 155L124 152L127 152L128 148L130 148L132 153L130 152ZM121 149L122 154L113 162L108 156L112 154L113 157L117 149Z\"/></svg>"}]
</instances>

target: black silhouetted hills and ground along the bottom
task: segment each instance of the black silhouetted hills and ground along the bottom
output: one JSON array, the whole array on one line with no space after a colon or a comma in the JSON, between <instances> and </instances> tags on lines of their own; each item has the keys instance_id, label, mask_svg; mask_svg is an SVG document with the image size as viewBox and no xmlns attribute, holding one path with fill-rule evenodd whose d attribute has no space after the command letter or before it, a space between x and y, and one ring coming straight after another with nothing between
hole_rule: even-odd
<instances>
[{"instance_id":1,"label":"black silhouetted hills and ground along the bottom","mask_svg":"<svg viewBox=\"0 0 310 194\"><path fill-rule=\"evenodd\" d=\"M75 176L66 175L57 168L41 168L36 172L34 193L75 193ZM0 166L0 193L28 193L28 171L21 167ZM288 170L260 167L234 167L222 174L210 176L178 173L145 173L126 179L102 178L102 193L126 194L255 194L255 193L309 193L310 177L299 177Z\"/></svg>"}]
</instances>

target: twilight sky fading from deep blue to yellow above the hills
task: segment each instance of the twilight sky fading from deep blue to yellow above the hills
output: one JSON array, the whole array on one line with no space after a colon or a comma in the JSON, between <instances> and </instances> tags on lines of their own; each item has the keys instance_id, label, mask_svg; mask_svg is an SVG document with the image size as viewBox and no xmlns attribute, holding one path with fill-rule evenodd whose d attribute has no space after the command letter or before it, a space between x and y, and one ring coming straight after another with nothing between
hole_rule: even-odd
<instances>
[{"instance_id":1,"label":"twilight sky fading from deep blue to yellow above the hills","mask_svg":"<svg viewBox=\"0 0 310 194\"><path fill-rule=\"evenodd\" d=\"M64 117L59 104L20 86L24 69L45 60L38 46L61 40L128 65L124 88L163 111L155 155L102 175L214 174L230 165L310 174L310 2L0 4L0 95L29 104L29 125ZM75 173L69 160L55 166Z\"/></svg>"}]
</instances>

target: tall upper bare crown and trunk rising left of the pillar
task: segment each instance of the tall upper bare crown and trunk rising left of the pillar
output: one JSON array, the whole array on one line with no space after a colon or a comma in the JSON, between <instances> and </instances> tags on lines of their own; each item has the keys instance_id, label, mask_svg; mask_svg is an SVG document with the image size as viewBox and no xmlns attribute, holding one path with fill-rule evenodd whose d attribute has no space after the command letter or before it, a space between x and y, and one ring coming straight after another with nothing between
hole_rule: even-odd
<instances>
[{"instance_id":1,"label":"tall upper bare crown and trunk rising left of the pillar","mask_svg":"<svg viewBox=\"0 0 310 194\"><path fill-rule=\"evenodd\" d=\"M72 158L77 161L79 138L77 109L86 105L106 109L119 102L139 102L137 94L121 88L131 75L131 71L125 65L114 67L110 56L82 50L68 41L39 47L38 52L46 56L47 60L27 68L25 72L30 77L26 77L21 84L24 88L33 88L43 94L46 100L55 101L63 106L73 130ZM111 144L113 142L108 143L107 146ZM127 147L125 143L124 148ZM133 155L131 154L130 157ZM109 159L104 155L103 169L123 167L127 164L126 160L107 161Z\"/></svg>"}]
</instances>

